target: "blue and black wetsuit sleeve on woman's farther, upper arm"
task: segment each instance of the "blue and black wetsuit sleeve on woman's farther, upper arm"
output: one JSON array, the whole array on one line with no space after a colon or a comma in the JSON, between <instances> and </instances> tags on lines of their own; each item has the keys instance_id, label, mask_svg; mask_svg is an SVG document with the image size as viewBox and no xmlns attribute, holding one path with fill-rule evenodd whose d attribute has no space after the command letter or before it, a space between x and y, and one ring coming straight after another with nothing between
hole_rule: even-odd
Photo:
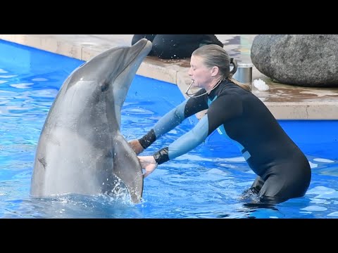
<instances>
[{"instance_id":1,"label":"blue and black wetsuit sleeve on woman's farther, upper arm","mask_svg":"<svg viewBox=\"0 0 338 253\"><path fill-rule=\"evenodd\" d=\"M200 92L203 93L203 91ZM175 126L182 123L184 119L206 108L208 108L208 103L205 98L199 97L184 100L180 105L177 105L176 108L161 117L146 135L139 138L139 143L144 149L148 148L149 145L163 136L163 134L168 133L168 131L171 131Z\"/></svg>"}]
</instances>

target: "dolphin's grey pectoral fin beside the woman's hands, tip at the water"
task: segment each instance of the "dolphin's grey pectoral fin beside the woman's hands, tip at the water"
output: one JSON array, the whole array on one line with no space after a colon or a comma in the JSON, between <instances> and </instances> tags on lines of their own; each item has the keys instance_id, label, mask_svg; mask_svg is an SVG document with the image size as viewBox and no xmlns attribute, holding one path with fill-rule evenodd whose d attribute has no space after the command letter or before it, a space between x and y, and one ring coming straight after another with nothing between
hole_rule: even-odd
<instances>
[{"instance_id":1,"label":"dolphin's grey pectoral fin beside the woman's hands, tip at the water","mask_svg":"<svg viewBox=\"0 0 338 253\"><path fill-rule=\"evenodd\" d=\"M132 202L138 203L143 192L143 174L139 159L122 135L117 134L114 143L114 173L127 186Z\"/></svg>"}]
</instances>

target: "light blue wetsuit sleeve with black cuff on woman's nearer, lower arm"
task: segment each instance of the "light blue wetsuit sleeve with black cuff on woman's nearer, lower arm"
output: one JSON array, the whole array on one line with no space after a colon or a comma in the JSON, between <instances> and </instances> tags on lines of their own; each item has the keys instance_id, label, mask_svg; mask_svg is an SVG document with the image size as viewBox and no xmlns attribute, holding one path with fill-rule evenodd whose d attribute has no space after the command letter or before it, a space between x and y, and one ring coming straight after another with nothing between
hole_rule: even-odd
<instances>
[{"instance_id":1,"label":"light blue wetsuit sleeve with black cuff on woman's nearer, lower arm","mask_svg":"<svg viewBox=\"0 0 338 253\"><path fill-rule=\"evenodd\" d=\"M208 115L202 117L194 128L177 138L168 147L162 148L154 153L154 158L158 164L173 160L175 157L184 155L190 150L196 148L199 144L206 140L208 136Z\"/></svg>"}]
</instances>

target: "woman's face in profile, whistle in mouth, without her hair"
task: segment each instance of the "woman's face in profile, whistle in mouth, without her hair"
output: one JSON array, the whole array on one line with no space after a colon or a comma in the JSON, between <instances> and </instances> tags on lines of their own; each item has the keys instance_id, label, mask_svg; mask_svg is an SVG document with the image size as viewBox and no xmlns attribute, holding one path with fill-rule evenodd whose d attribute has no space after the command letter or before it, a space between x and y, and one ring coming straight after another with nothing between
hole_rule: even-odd
<instances>
[{"instance_id":1,"label":"woman's face in profile, whistle in mouth, without her hair","mask_svg":"<svg viewBox=\"0 0 338 253\"><path fill-rule=\"evenodd\" d=\"M212 72L212 68L208 68L204 65L201 56L192 56L190 58L188 74L194 82L192 86L206 89L208 84L213 82L214 77L211 75Z\"/></svg>"}]
</instances>

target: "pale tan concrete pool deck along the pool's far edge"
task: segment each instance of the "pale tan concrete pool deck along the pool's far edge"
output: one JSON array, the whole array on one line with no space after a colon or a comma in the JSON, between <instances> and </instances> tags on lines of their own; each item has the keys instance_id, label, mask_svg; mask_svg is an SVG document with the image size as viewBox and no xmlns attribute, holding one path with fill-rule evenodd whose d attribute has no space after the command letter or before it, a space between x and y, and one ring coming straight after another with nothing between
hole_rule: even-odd
<instances>
[{"instance_id":1,"label":"pale tan concrete pool deck along the pool's far edge","mask_svg":"<svg viewBox=\"0 0 338 253\"><path fill-rule=\"evenodd\" d=\"M216 34L238 63L251 63L250 48L256 34ZM89 60L108 48L130 46L132 34L0 34L0 39ZM190 84L189 59L162 60L148 56L137 74L177 84L182 93ZM338 88L311 88L278 84L253 66L253 80L262 79L270 89L252 92L277 119L338 119Z\"/></svg>"}]
</instances>

